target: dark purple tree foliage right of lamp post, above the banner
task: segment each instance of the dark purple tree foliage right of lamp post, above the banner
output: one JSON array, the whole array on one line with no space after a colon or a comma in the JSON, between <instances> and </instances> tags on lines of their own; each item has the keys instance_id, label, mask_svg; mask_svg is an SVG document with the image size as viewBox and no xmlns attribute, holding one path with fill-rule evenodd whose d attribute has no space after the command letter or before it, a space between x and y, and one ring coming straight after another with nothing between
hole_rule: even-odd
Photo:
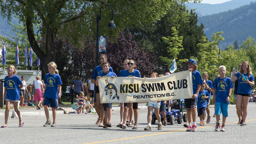
<instances>
[{"instance_id":1,"label":"dark purple tree foliage right of lamp post, above the banner","mask_svg":"<svg viewBox=\"0 0 256 144\"><path fill-rule=\"evenodd\" d=\"M145 52L137 45L131 34L121 32L116 42L108 41L106 44L108 61L116 74L123 69L125 59L133 59L136 62L141 76L150 75L156 67L156 57L154 54Z\"/></svg>"}]
</instances>

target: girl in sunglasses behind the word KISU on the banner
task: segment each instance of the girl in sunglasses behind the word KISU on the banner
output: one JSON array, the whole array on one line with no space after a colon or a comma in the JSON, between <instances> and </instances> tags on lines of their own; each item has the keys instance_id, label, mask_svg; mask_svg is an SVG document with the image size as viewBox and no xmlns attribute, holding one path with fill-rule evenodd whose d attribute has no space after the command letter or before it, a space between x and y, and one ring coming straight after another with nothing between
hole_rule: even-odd
<instances>
[{"instance_id":1,"label":"girl in sunglasses behind the word KISU on the banner","mask_svg":"<svg viewBox=\"0 0 256 144\"><path fill-rule=\"evenodd\" d=\"M128 62L128 67L129 69L124 71L123 76L126 77L141 77L141 73L140 71L136 70L136 65L135 65L135 61L130 59ZM127 107L133 108L133 112L134 112L134 126L132 129L137 129L137 121L138 121L138 102L133 102L132 105L129 106L129 103L125 103L124 104L125 110L124 110L124 121L123 121L123 125L120 125L120 128L122 129L126 129L126 127L124 126L127 120L127 115L128 115L128 109ZM130 119L132 117L132 113L130 114Z\"/></svg>"}]
</instances>

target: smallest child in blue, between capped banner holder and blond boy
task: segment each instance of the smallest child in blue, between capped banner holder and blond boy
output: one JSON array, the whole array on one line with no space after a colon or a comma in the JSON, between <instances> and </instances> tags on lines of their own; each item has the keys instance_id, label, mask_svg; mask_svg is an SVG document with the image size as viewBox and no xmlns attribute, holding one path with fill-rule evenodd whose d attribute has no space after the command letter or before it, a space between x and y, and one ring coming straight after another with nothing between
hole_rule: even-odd
<instances>
[{"instance_id":1,"label":"smallest child in blue, between capped banner holder and blond boy","mask_svg":"<svg viewBox=\"0 0 256 144\"><path fill-rule=\"evenodd\" d=\"M200 117L200 126L205 124L205 111L207 107L207 99L209 98L209 93L205 90L205 84L201 86L201 89L198 93L198 116Z\"/></svg>"}]
</instances>

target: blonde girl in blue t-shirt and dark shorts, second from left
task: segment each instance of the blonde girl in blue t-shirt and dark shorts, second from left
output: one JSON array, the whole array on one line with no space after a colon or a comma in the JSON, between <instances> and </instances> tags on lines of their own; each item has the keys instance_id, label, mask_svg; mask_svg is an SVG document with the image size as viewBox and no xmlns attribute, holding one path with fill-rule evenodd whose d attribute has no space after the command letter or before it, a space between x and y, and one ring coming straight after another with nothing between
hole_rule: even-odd
<instances>
[{"instance_id":1,"label":"blonde girl in blue t-shirt and dark shorts, second from left","mask_svg":"<svg viewBox=\"0 0 256 144\"><path fill-rule=\"evenodd\" d=\"M58 108L58 98L61 98L62 91L62 79L60 75L58 75L57 65L52 61L48 64L48 71L45 75L45 101L44 101L44 109L46 116L46 123L44 127L50 126L51 121L49 118L49 110L48 107L51 105L52 108L52 117L53 122L51 127L56 127L56 108Z\"/></svg>"}]
</instances>

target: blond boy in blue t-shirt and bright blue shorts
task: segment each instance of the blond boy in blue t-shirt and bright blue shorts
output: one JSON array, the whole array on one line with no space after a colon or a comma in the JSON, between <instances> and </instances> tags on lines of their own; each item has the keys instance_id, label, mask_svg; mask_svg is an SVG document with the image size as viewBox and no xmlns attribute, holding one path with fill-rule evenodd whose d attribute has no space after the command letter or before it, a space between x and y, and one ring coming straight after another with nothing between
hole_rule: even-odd
<instances>
[{"instance_id":1,"label":"blond boy in blue t-shirt and bright blue shorts","mask_svg":"<svg viewBox=\"0 0 256 144\"><path fill-rule=\"evenodd\" d=\"M215 131L220 131L220 114L222 113L221 131L225 132L225 123L228 117L228 104L230 100L231 90L233 88L232 81L226 77L226 67L220 66L220 77L215 78L213 83L213 104L215 103L216 126Z\"/></svg>"}]
</instances>

